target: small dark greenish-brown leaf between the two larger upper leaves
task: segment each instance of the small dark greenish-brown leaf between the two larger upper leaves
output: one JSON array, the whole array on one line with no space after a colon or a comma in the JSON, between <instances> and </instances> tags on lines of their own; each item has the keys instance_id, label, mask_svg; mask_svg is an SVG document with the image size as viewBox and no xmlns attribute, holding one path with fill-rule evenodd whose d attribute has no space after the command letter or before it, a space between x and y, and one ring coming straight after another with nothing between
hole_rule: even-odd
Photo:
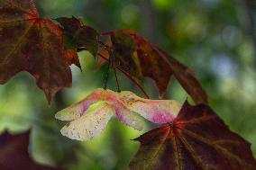
<instances>
[{"instance_id":1,"label":"small dark greenish-brown leaf between the two larger upper leaves","mask_svg":"<svg viewBox=\"0 0 256 170\"><path fill-rule=\"evenodd\" d=\"M84 25L76 17L60 17L56 19L64 28L65 44L68 49L86 47L87 50L96 56L98 50L99 34L93 28Z\"/></svg>"}]
</instances>

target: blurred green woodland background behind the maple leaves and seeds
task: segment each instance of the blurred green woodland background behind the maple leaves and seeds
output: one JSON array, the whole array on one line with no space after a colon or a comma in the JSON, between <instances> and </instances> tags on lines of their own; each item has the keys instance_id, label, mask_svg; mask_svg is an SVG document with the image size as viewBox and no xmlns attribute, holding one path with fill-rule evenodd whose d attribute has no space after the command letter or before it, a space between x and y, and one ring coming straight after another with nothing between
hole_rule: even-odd
<instances>
[{"instance_id":1,"label":"blurred green woodland background behind the maple leaves and seeds","mask_svg":"<svg viewBox=\"0 0 256 170\"><path fill-rule=\"evenodd\" d=\"M131 28L158 44L197 74L210 105L230 128L251 142L256 155L256 3L247 0L38 0L42 16L72 15L97 31ZM255 2L255 1L254 1ZM253 16L254 15L254 16ZM97 139L78 142L60 135L63 122L54 113L103 87L106 66L80 52L83 72L72 66L73 87L62 90L48 106L32 76L20 73L0 86L0 131L32 129L30 152L38 162L70 170L127 169L142 134L116 120ZM108 87L116 89L111 73ZM122 90L138 92L121 74ZM152 98L150 79L144 87ZM183 103L187 94L172 79L166 98ZM152 125L144 130L151 130ZM143 132L144 132L143 131Z\"/></svg>"}]
</instances>

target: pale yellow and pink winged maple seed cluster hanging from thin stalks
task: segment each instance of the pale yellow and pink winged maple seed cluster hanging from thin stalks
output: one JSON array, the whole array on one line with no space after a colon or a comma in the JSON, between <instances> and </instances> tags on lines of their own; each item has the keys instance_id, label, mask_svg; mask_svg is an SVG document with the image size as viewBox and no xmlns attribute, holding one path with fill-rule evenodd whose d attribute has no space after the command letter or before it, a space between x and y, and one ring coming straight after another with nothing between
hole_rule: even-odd
<instances>
[{"instance_id":1,"label":"pale yellow and pink winged maple seed cluster hanging from thin stalks","mask_svg":"<svg viewBox=\"0 0 256 170\"><path fill-rule=\"evenodd\" d=\"M161 124L173 121L179 109L176 101L149 100L128 91L115 93L96 89L84 100L57 112L55 118L71 121L60 130L62 135L70 139L88 140L98 136L114 114L123 124L142 130L143 121L139 115Z\"/></svg>"}]
</instances>

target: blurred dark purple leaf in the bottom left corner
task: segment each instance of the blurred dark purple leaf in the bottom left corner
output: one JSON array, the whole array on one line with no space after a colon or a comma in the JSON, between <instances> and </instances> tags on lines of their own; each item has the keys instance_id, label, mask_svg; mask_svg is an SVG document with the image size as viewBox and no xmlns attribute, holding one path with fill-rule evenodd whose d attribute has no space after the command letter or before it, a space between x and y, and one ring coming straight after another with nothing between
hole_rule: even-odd
<instances>
[{"instance_id":1,"label":"blurred dark purple leaf in the bottom left corner","mask_svg":"<svg viewBox=\"0 0 256 170\"><path fill-rule=\"evenodd\" d=\"M7 131L0 136L0 169L3 170L61 170L43 166L32 160L28 153L30 131L12 135Z\"/></svg>"}]
</instances>

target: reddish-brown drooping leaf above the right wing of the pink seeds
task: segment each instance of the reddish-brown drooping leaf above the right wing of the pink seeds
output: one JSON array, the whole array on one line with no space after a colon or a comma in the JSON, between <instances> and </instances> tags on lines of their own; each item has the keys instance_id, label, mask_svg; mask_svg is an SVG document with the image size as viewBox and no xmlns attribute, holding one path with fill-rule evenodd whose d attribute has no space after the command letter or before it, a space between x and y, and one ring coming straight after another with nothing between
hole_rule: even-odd
<instances>
[{"instance_id":1,"label":"reddish-brown drooping leaf above the right wing of the pink seeds","mask_svg":"<svg viewBox=\"0 0 256 170\"><path fill-rule=\"evenodd\" d=\"M165 94L170 77L175 76L195 103L207 103L206 92L194 73L177 59L132 30L118 30L110 34L116 64L132 76L151 77L159 89L160 97Z\"/></svg>"}]
</instances>

